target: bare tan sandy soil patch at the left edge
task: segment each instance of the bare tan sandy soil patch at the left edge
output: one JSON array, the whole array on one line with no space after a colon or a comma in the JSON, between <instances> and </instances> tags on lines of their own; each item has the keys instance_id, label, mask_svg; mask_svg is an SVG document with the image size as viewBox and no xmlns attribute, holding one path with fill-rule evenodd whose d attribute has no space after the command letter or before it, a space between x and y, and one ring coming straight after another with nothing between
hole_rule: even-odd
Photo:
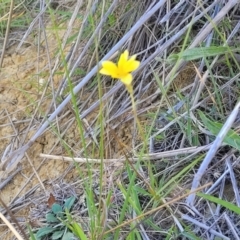
<instances>
[{"instance_id":1,"label":"bare tan sandy soil patch at the left edge","mask_svg":"<svg viewBox=\"0 0 240 240\"><path fill-rule=\"evenodd\" d=\"M53 37L48 40L49 52L52 55L56 47L55 40ZM0 152L3 157L29 140L39 127L51 103L49 90L42 98L49 74L46 70L48 65L46 51L41 49L38 55L38 49L34 44L23 46L18 53L15 49L16 46L13 46L7 50L0 71ZM61 75L56 74L51 87L57 89L61 78ZM40 105L39 111L34 115L38 104ZM41 112L42 114L39 114ZM75 131L76 127L73 124L68 130L68 137L74 138ZM45 161L39 157L40 153L64 153L57 139L52 131L47 131L27 151L17 166L17 169L21 170L6 186L1 187L1 198L7 206L11 207L17 198L24 196L37 184L58 178L71 164L59 160ZM15 171L16 168L12 172L0 171L0 182L4 182ZM68 174L67 178L70 181L72 175ZM51 190L44 189L44 191L47 200ZM23 216L24 212L27 214L25 210L18 214L24 217L23 221L26 221L28 216ZM0 238L11 239L10 236L5 235L6 229L2 226L4 225L0 225L0 233L4 234L0 234Z\"/></svg>"}]
</instances>

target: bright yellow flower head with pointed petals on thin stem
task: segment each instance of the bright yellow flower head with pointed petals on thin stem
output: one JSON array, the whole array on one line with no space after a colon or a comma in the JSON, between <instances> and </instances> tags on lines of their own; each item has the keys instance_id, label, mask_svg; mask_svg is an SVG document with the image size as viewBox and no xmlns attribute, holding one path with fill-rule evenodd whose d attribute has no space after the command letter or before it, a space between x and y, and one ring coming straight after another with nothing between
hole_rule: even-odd
<instances>
[{"instance_id":1,"label":"bright yellow flower head with pointed petals on thin stem","mask_svg":"<svg viewBox=\"0 0 240 240\"><path fill-rule=\"evenodd\" d=\"M136 55L129 57L128 50L125 50L117 64L111 61L103 61L103 68L99 72L112 78L118 78L126 86L129 86L132 83L131 72L135 71L139 65L140 62L136 60Z\"/></svg>"}]
</instances>

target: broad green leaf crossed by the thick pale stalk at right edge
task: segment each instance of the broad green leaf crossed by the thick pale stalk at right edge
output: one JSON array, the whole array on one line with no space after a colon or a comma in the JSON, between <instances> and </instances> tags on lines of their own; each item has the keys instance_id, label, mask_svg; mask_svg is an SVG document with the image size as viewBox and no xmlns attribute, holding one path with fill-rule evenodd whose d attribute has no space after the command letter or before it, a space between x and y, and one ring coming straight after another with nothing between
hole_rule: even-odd
<instances>
[{"instance_id":1,"label":"broad green leaf crossed by the thick pale stalk at right edge","mask_svg":"<svg viewBox=\"0 0 240 240\"><path fill-rule=\"evenodd\" d=\"M223 124L211 121L201 111L198 111L198 113L199 113L199 116L200 116L202 122L206 126L206 128L213 135L216 136L219 133L219 131L221 130L221 128L223 127ZM223 142L228 144L229 146L236 148L237 150L240 150L240 136L232 129L230 129L228 131L225 138L223 139Z\"/></svg>"}]
</instances>

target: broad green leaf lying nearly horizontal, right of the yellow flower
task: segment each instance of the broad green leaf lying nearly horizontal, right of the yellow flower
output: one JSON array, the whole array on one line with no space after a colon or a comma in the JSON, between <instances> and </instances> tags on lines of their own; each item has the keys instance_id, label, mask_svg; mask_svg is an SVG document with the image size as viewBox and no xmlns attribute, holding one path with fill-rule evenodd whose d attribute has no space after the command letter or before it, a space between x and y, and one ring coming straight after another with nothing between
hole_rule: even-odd
<instances>
[{"instance_id":1,"label":"broad green leaf lying nearly horizontal, right of the yellow flower","mask_svg":"<svg viewBox=\"0 0 240 240\"><path fill-rule=\"evenodd\" d=\"M178 54L171 54L167 61L176 62L178 59L183 59L185 61L192 61L196 59L214 57L217 55L230 53L234 51L239 51L239 48L231 49L224 46L211 46L211 47L199 47L186 49Z\"/></svg>"}]
</instances>

